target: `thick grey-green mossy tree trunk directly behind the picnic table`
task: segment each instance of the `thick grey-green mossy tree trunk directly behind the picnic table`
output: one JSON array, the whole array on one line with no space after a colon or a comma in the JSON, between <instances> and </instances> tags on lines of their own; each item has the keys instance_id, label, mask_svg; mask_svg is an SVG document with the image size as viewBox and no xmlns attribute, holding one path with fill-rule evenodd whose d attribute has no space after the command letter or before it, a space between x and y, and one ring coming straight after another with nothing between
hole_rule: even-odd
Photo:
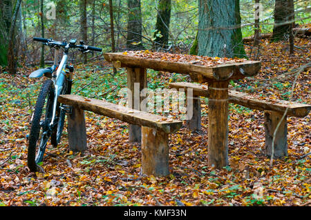
<instances>
[{"instance_id":1,"label":"thick grey-green mossy tree trunk directly behind the picnic table","mask_svg":"<svg viewBox=\"0 0 311 220\"><path fill-rule=\"evenodd\" d=\"M246 56L239 0L199 0L198 55Z\"/></svg>"}]
</instances>

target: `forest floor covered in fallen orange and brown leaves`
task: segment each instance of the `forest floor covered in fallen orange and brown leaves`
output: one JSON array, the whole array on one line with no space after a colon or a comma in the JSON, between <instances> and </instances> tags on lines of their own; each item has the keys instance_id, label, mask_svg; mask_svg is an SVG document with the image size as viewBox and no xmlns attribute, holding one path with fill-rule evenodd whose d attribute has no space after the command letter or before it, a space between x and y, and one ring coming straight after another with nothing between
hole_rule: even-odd
<instances>
[{"instance_id":1,"label":"forest floor covered in fallen orange and brown leaves","mask_svg":"<svg viewBox=\"0 0 311 220\"><path fill-rule=\"evenodd\" d=\"M290 99L291 71L311 61L310 40L296 39L295 45L290 56L288 42L263 41L256 58L262 61L261 72L254 79L231 81L232 89L260 99ZM256 54L246 48L248 54ZM120 99L116 91L126 87L126 74L124 70L115 77L106 74L107 65L103 60L78 65L73 93L113 102ZM0 206L311 205L310 114L302 119L288 117L288 157L274 159L270 167L264 154L263 112L230 104L229 166L217 170L207 165L204 99L203 133L191 134L183 127L170 136L168 177L142 177L140 145L128 142L126 123L91 112L86 112L88 150L68 151L65 129L59 146L49 145L46 150L44 172L31 173L26 135L43 80L28 78L33 69L19 68L14 76L0 73ZM311 103L310 72L309 68L299 73L293 101ZM156 71L149 71L148 77L149 88L154 89L188 80Z\"/></svg>"}]
</instances>

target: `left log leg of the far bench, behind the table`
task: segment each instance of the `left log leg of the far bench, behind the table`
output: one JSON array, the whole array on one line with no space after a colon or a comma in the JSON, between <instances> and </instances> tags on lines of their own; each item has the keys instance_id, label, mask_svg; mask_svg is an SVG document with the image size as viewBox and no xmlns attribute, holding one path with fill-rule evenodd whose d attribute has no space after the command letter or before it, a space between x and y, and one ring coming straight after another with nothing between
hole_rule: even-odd
<instances>
[{"instance_id":1,"label":"left log leg of the far bench, behind the table","mask_svg":"<svg viewBox=\"0 0 311 220\"><path fill-rule=\"evenodd\" d=\"M189 99L192 99L192 102L189 101ZM193 105L192 108L192 117L191 119L187 120L187 129L191 132L196 132L201 130L201 102L200 97L194 96L194 97L187 97L187 112L191 110L191 108L188 106L189 104Z\"/></svg>"}]
</instances>

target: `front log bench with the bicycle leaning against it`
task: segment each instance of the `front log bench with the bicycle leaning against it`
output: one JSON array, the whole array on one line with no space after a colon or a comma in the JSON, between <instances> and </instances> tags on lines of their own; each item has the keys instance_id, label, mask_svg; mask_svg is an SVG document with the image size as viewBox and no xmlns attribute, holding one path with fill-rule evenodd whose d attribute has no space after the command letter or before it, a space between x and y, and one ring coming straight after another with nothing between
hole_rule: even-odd
<instances>
[{"instance_id":1,"label":"front log bench with the bicycle leaning against it","mask_svg":"<svg viewBox=\"0 0 311 220\"><path fill-rule=\"evenodd\" d=\"M61 95L58 101L72 106L72 112L68 114L70 150L83 151L87 148L84 119L84 110L87 110L142 126L142 173L154 176L169 174L169 134L177 132L182 121L73 94Z\"/></svg>"}]
</instances>

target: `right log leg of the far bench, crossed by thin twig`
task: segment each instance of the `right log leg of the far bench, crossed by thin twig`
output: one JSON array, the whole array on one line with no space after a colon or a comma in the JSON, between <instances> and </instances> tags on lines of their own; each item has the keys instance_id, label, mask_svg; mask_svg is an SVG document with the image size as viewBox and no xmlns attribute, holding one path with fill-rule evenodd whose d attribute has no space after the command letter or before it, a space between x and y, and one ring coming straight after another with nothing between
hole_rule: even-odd
<instances>
[{"instance_id":1,"label":"right log leg of the far bench, crossed by thin twig","mask_svg":"<svg viewBox=\"0 0 311 220\"><path fill-rule=\"evenodd\" d=\"M271 157L274 130L283 117L279 112L265 112L265 153ZM281 122L274 140L274 155L279 158L288 155L288 123L286 117Z\"/></svg>"}]
</instances>

